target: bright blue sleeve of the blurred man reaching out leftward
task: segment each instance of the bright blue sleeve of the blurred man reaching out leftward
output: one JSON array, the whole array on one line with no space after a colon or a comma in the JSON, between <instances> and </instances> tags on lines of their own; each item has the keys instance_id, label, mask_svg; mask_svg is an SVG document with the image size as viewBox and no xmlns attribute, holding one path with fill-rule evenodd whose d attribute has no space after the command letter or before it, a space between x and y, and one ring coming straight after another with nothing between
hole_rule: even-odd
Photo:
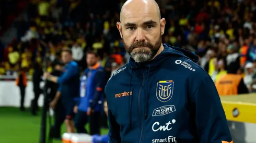
<instances>
[{"instance_id":1,"label":"bright blue sleeve of the blurred man reaching out leftward","mask_svg":"<svg viewBox=\"0 0 256 143\"><path fill-rule=\"evenodd\" d=\"M62 74L62 76L58 77L57 83L62 84L69 79L71 79L73 76L75 76L79 72L77 65L75 64L69 64L67 67L67 71Z\"/></svg>"}]
</instances>

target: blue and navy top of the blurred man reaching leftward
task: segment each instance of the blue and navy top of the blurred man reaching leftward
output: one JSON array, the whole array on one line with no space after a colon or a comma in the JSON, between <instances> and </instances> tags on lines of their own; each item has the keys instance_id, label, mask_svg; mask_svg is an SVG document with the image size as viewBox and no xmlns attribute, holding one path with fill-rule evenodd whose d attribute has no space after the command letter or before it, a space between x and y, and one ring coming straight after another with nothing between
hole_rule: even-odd
<instances>
[{"instance_id":1,"label":"blue and navy top of the blurred man reaching leftward","mask_svg":"<svg viewBox=\"0 0 256 143\"><path fill-rule=\"evenodd\" d=\"M75 61L66 64L62 71L62 75L58 77L57 83L60 84L61 100L64 105L74 103L79 97L79 68ZM74 102L71 102L74 101Z\"/></svg>"}]
</instances>

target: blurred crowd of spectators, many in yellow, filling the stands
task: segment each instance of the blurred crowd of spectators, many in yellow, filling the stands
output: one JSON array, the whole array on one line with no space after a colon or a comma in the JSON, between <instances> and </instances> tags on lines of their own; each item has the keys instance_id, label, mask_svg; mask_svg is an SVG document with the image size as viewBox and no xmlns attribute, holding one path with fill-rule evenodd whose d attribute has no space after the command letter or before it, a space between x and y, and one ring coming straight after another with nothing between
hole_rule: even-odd
<instances>
[{"instance_id":1,"label":"blurred crowd of spectators, many in yellow, filling the stands","mask_svg":"<svg viewBox=\"0 0 256 143\"><path fill-rule=\"evenodd\" d=\"M227 73L241 74L250 92L256 79L256 1L249 0L159 0L161 17L166 18L163 43L193 51L198 64L213 81ZM49 60L54 68L60 50L71 48L81 70L85 52L94 50L104 69L113 73L126 63L116 22L124 1L31 1L25 19L15 22L17 38L0 43L0 74L15 74ZM49 58L44 58L49 55ZM44 65L45 66L45 65Z\"/></svg>"}]
</instances>

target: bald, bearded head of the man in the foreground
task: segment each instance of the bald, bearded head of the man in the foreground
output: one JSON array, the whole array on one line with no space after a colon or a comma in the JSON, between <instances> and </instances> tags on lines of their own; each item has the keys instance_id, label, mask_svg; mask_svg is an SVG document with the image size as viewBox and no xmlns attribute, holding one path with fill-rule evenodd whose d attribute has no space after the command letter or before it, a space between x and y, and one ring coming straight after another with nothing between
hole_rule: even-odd
<instances>
[{"instance_id":1,"label":"bald, bearded head of the man in the foreground","mask_svg":"<svg viewBox=\"0 0 256 143\"><path fill-rule=\"evenodd\" d=\"M125 50L136 62L149 61L164 49L161 36L165 32L165 18L160 18L154 0L128 0L124 3L117 28Z\"/></svg>"}]
</instances>

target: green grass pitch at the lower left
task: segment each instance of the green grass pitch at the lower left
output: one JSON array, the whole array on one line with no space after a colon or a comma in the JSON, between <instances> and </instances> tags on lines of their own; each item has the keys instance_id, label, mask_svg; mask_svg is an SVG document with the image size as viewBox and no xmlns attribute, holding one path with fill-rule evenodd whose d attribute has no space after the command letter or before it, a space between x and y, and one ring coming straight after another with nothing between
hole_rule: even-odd
<instances>
[{"instance_id":1,"label":"green grass pitch at the lower left","mask_svg":"<svg viewBox=\"0 0 256 143\"><path fill-rule=\"evenodd\" d=\"M41 115L32 116L29 111L20 112L18 108L0 107L0 142L37 143L40 136L40 122ZM63 124L62 133L65 131ZM107 129L101 129L101 134L107 134L107 132ZM61 143L61 141L54 140L53 143Z\"/></svg>"}]
</instances>

